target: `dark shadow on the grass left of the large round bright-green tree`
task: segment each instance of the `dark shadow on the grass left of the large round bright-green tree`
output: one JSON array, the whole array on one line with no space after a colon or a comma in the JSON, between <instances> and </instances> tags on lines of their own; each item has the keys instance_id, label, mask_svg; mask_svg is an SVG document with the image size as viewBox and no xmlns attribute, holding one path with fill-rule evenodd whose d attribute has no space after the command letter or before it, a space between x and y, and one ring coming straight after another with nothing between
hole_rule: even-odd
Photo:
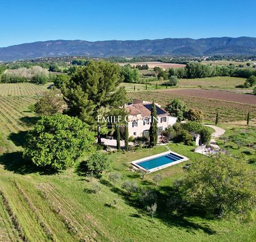
<instances>
[{"instance_id":1,"label":"dark shadow on the grass left of the large round bright-green tree","mask_svg":"<svg viewBox=\"0 0 256 242\"><path fill-rule=\"evenodd\" d=\"M27 161L22 158L22 152L16 151L12 153L4 153L0 156L0 164L4 166L7 171L12 171L17 174L31 174L39 173L41 175L52 175L57 173L56 170L50 167L39 168L32 161Z\"/></svg>"}]
</instances>

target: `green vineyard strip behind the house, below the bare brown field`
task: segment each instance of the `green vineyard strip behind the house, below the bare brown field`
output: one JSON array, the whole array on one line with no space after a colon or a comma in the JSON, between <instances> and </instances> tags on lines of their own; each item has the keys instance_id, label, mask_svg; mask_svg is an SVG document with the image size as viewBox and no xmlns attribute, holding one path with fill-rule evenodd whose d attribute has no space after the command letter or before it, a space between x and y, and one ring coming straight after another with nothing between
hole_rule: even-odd
<instances>
[{"instance_id":1,"label":"green vineyard strip behind the house, below the bare brown field","mask_svg":"<svg viewBox=\"0 0 256 242\"><path fill-rule=\"evenodd\" d=\"M189 91L193 90L194 89L189 89ZM163 107L168 101L178 98L184 101L187 104L187 107L196 107L197 109L202 110L202 112L204 112L205 119L209 121L215 120L217 111L219 112L220 122L246 120L247 113L249 111L251 112L252 119L256 118L256 105L209 99L207 97L193 97L184 94L176 94L174 91L176 91L176 89L168 89L168 91L155 90L128 92L127 97L130 100L134 98L147 101L154 99L156 102L163 105ZM230 94L230 92L227 92L227 94Z\"/></svg>"}]
</instances>

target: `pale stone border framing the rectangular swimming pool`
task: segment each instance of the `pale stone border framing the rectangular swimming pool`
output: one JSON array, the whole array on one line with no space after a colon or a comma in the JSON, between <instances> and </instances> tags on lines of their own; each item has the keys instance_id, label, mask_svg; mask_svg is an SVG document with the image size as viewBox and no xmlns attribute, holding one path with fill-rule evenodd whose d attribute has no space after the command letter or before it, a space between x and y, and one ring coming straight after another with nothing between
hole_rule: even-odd
<instances>
[{"instance_id":1,"label":"pale stone border framing the rectangular swimming pool","mask_svg":"<svg viewBox=\"0 0 256 242\"><path fill-rule=\"evenodd\" d=\"M174 155L180 156L183 159L179 159L178 161L173 161L171 163L164 164L163 166L158 166L156 168L152 168L152 169L148 169L148 170L141 167L140 164L138 164L138 163L143 162L143 161L148 161L149 159L154 159L154 158L158 158L158 157L161 157L161 156L168 155L169 153L173 153ZM143 171L146 171L147 173L153 173L154 171L159 171L161 169L168 168L169 166L173 166L174 164L179 164L179 163L182 163L183 161L188 161L188 160L189 160L189 158L187 158L186 156L180 155L180 154L178 154L178 153L176 153L172 150L169 150L169 151L166 151L166 152L163 152L163 153L159 153L157 155L147 156L147 157L141 158L141 159L136 159L135 161L131 161L130 163L133 164L133 166L135 166L136 168L141 169Z\"/></svg>"}]
</instances>

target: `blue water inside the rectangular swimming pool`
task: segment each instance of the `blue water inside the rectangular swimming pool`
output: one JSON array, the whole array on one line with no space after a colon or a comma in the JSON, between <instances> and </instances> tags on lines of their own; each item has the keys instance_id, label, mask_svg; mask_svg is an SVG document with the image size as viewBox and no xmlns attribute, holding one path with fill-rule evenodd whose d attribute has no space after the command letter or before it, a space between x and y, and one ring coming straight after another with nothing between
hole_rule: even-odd
<instances>
[{"instance_id":1,"label":"blue water inside the rectangular swimming pool","mask_svg":"<svg viewBox=\"0 0 256 242\"><path fill-rule=\"evenodd\" d=\"M175 155L173 153L169 153L168 155L159 156L157 158L149 159L148 161L141 161L140 163L136 163L142 168L149 170L153 168L157 168L158 166L163 166L164 164L173 163L174 161L179 161L183 159L183 157Z\"/></svg>"}]
</instances>

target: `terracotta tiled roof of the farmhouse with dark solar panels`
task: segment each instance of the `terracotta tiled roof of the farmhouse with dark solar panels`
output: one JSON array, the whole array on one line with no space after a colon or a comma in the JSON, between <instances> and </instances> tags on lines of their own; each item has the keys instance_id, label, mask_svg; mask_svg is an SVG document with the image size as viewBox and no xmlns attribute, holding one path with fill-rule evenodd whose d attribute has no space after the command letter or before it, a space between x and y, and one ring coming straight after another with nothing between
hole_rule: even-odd
<instances>
[{"instance_id":1,"label":"terracotta tiled roof of the farmhouse with dark solar panels","mask_svg":"<svg viewBox=\"0 0 256 242\"><path fill-rule=\"evenodd\" d=\"M141 115L142 117L149 117L151 115L152 102L143 104L130 104L125 107L129 115ZM156 105L156 115L169 115L164 109Z\"/></svg>"}]
</instances>

